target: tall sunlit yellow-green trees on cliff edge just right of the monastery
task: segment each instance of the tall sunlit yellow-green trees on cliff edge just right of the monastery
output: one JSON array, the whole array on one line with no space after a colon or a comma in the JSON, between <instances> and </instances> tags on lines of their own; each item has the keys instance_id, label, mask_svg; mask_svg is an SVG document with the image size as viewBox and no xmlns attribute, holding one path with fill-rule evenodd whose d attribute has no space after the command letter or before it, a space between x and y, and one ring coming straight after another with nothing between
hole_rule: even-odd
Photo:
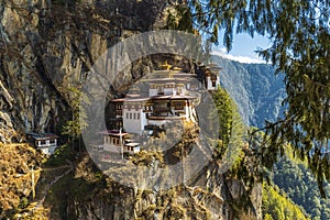
<instances>
[{"instance_id":1,"label":"tall sunlit yellow-green trees on cliff edge just right of the monastery","mask_svg":"<svg viewBox=\"0 0 330 220\"><path fill-rule=\"evenodd\" d=\"M221 157L221 163L230 166L228 175L244 180L246 188L252 188L255 179L260 177L260 162L245 142L246 131L241 116L224 89L218 88L212 92L212 98L220 125L218 156Z\"/></svg>"}]
</instances>

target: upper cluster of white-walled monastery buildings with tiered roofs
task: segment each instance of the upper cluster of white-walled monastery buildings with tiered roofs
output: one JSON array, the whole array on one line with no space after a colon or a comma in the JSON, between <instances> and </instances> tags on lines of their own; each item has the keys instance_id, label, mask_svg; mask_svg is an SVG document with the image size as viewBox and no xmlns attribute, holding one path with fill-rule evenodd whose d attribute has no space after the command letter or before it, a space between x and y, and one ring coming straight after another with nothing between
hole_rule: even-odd
<instances>
[{"instance_id":1,"label":"upper cluster of white-walled monastery buildings with tiered roofs","mask_svg":"<svg viewBox=\"0 0 330 220\"><path fill-rule=\"evenodd\" d=\"M117 118L122 119L122 128L128 133L141 135L146 125L163 125L167 120L175 120L175 117L196 122L195 97L189 96L189 90L202 89L202 84L206 85L207 90L215 90L220 85L219 77L209 68L205 78L197 84L189 79L195 75L174 73L168 69L154 74L160 76L145 81L148 86L148 97L141 98L136 90L138 92L134 91L124 99L116 100ZM158 119L155 119L156 117ZM164 119L160 120L162 117Z\"/></svg>"}]
</instances>

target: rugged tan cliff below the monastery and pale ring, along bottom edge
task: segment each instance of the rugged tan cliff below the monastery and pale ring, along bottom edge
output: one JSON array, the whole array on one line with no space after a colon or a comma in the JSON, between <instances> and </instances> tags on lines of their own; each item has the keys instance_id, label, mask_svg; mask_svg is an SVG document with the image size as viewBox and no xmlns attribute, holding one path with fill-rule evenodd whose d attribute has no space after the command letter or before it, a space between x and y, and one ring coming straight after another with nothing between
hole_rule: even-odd
<instances>
[{"instance_id":1,"label":"rugged tan cliff below the monastery and pale ring, along bottom edge","mask_svg":"<svg viewBox=\"0 0 330 220\"><path fill-rule=\"evenodd\" d=\"M86 156L51 195L51 219L261 219L261 184L249 185L210 163L170 189L129 188L94 175ZM69 180L69 183L68 183ZM54 202L55 201L55 202ZM48 201L50 202L50 201Z\"/></svg>"}]
</instances>

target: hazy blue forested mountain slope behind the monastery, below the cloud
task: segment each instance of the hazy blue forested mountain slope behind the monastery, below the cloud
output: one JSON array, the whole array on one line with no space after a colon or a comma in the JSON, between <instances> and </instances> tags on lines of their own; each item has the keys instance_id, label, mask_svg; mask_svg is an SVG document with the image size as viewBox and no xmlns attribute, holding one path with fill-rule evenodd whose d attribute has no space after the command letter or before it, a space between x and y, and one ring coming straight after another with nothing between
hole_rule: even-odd
<instances>
[{"instance_id":1,"label":"hazy blue forested mountain slope behind the monastery, below the cloud","mask_svg":"<svg viewBox=\"0 0 330 220\"><path fill-rule=\"evenodd\" d=\"M220 84L237 102L246 125L264 127L265 120L276 121L283 113L282 101L286 97L283 74L267 64L243 64L217 55Z\"/></svg>"}]
</instances>

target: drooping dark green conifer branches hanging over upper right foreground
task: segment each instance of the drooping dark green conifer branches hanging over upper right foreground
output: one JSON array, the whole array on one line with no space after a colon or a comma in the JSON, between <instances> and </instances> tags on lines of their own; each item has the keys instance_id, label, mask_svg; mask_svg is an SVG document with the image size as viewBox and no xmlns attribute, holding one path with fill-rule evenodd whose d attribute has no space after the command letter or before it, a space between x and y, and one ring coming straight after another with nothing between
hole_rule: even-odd
<instances>
[{"instance_id":1,"label":"drooping dark green conifer branches hanging over upper right foreground","mask_svg":"<svg viewBox=\"0 0 330 220\"><path fill-rule=\"evenodd\" d=\"M231 48L234 29L251 36L267 35L272 46L258 54L285 73L288 106L285 118L267 124L275 150L285 141L309 160L322 196L324 177L330 180L330 8L328 0L190 0L197 28Z\"/></svg>"}]
</instances>

